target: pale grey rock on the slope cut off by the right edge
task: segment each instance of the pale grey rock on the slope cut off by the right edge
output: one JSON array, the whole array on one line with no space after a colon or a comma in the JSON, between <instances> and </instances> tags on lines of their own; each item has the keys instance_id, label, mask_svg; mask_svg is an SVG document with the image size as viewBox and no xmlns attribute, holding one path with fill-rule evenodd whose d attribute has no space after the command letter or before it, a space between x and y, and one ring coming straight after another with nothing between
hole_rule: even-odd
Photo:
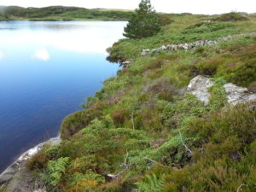
<instances>
[{"instance_id":1,"label":"pale grey rock on the slope cut off by the right edge","mask_svg":"<svg viewBox=\"0 0 256 192\"><path fill-rule=\"evenodd\" d=\"M236 84L224 84L228 102L232 105L243 102L256 102L256 94L250 93L247 88L236 86Z\"/></svg>"}]
</instances>

